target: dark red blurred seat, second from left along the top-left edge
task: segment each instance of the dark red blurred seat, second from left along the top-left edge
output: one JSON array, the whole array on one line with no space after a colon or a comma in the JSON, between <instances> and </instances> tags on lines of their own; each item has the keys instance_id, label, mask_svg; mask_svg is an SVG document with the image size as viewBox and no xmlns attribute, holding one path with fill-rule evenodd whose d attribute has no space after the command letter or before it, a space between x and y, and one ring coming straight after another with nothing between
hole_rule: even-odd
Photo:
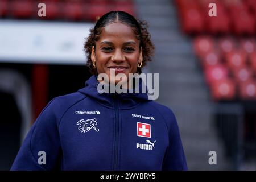
<instances>
[{"instance_id":1,"label":"dark red blurred seat, second from left along the top-left edge","mask_svg":"<svg viewBox=\"0 0 256 182\"><path fill-rule=\"evenodd\" d=\"M33 13L35 13L35 10L38 10L36 7L34 1L30 0L14 0L10 3L11 12L14 18L31 18Z\"/></svg>"}]
</instances>

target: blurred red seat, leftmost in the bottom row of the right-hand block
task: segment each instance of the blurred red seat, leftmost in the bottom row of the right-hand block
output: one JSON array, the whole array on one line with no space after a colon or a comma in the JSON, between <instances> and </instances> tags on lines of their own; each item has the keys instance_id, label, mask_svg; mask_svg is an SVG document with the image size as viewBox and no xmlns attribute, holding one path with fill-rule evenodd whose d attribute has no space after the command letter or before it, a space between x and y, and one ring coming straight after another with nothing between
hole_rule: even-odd
<instances>
[{"instance_id":1,"label":"blurred red seat, leftmost in the bottom row of the right-hand block","mask_svg":"<svg viewBox=\"0 0 256 182\"><path fill-rule=\"evenodd\" d=\"M214 81L210 84L214 101L233 100L236 96L236 84L230 79Z\"/></svg>"}]
</instances>

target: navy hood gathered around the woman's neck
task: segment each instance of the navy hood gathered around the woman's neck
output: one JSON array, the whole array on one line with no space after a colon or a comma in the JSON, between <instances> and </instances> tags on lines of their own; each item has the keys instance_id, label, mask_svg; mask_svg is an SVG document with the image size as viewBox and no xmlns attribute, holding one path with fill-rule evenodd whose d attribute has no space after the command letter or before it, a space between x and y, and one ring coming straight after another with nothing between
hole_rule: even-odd
<instances>
[{"instance_id":1,"label":"navy hood gathered around the woman's neck","mask_svg":"<svg viewBox=\"0 0 256 182\"><path fill-rule=\"evenodd\" d=\"M85 87L80 89L79 92L85 94L88 97L93 98L99 104L105 105L107 107L113 107L114 98L119 100L119 107L121 109L128 109L134 107L141 102L150 102L152 100L148 99L147 93L135 93L135 89L139 88L142 90L143 81L140 78L139 85L133 89L132 93L98 93L97 86L99 81L97 80L97 75L93 75L85 82Z\"/></svg>"}]
</instances>

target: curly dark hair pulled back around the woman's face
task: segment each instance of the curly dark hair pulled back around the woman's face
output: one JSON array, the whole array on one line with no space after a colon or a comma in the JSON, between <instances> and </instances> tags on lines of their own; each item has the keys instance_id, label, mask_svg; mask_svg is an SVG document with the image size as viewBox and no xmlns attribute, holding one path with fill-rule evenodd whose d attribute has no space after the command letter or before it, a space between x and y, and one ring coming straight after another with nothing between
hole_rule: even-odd
<instances>
[{"instance_id":1,"label":"curly dark hair pulled back around the woman's face","mask_svg":"<svg viewBox=\"0 0 256 182\"><path fill-rule=\"evenodd\" d=\"M89 37L84 43L84 51L88 60L86 66L89 67L89 70L93 75L97 75L97 69L93 67L92 60L90 59L92 47L95 47L95 42L100 39L102 28L113 22L122 22L133 28L136 38L140 40L140 47L143 51L143 61L141 68L147 64L147 61L151 61L151 57L154 55L155 46L151 42L151 35L147 30L147 22L137 20L134 18L134 16L126 13L125 11L110 11L97 20L95 26L90 29ZM142 72L141 68L137 68L137 73L140 74Z\"/></svg>"}]
</instances>

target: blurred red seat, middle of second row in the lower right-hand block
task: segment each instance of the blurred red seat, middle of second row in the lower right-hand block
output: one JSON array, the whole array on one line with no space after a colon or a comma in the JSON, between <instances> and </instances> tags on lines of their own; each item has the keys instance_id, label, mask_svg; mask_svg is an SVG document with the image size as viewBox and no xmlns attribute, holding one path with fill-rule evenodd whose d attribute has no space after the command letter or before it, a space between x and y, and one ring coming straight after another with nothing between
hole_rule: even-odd
<instances>
[{"instance_id":1,"label":"blurred red seat, middle of second row in the lower right-hand block","mask_svg":"<svg viewBox=\"0 0 256 182\"><path fill-rule=\"evenodd\" d=\"M225 61L230 69L245 67L246 53L244 51L232 51L226 53Z\"/></svg>"}]
</instances>

